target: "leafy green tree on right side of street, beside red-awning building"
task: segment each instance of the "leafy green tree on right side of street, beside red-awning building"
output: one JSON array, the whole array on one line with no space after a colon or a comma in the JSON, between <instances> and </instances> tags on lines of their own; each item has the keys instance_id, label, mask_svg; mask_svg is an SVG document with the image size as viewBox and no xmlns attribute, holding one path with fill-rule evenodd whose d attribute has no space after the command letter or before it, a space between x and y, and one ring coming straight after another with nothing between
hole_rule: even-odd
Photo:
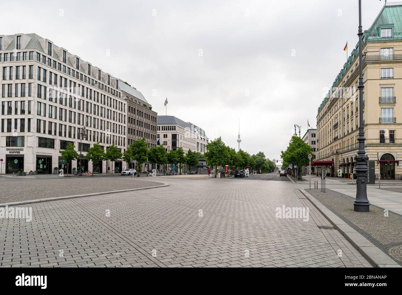
<instances>
[{"instance_id":1,"label":"leafy green tree on right side of street, beside red-awning building","mask_svg":"<svg viewBox=\"0 0 402 295\"><path fill-rule=\"evenodd\" d=\"M281 158L288 163L295 163L301 177L301 166L308 165L308 154L312 154L313 149L298 136L292 136L286 151L281 151Z\"/></svg>"}]
</instances>

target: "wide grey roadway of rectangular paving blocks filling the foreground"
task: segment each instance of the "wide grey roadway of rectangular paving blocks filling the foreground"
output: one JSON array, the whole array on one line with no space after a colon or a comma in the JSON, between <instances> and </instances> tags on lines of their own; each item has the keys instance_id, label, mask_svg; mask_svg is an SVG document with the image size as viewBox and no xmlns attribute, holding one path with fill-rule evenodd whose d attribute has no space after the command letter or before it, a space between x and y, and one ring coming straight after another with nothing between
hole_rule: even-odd
<instances>
[{"instance_id":1,"label":"wide grey roadway of rectangular paving blocks filling the foreground","mask_svg":"<svg viewBox=\"0 0 402 295\"><path fill-rule=\"evenodd\" d=\"M0 267L370 267L290 181L164 182L1 219Z\"/></svg>"}]
</instances>

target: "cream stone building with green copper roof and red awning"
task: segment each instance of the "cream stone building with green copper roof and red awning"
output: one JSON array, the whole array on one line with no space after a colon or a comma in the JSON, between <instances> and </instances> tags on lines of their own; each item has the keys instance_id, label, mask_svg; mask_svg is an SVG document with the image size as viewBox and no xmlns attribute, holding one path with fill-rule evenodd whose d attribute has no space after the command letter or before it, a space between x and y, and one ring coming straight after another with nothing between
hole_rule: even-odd
<instances>
[{"instance_id":1,"label":"cream stone building with green copper roof and red awning","mask_svg":"<svg viewBox=\"0 0 402 295\"><path fill-rule=\"evenodd\" d=\"M363 33L365 151L381 179L401 179L402 5L386 3ZM317 115L317 159L327 172L355 172L359 127L359 44L338 73ZM378 159L377 162L377 153ZM401 163L402 164L402 163ZM377 173L376 173L377 177Z\"/></svg>"}]
</instances>

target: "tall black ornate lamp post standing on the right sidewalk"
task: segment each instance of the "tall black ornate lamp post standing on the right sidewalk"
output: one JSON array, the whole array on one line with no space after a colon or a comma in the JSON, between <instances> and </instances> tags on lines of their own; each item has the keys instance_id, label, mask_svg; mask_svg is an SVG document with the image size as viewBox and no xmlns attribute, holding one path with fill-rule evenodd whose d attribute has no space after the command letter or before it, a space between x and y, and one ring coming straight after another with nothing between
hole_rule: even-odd
<instances>
[{"instance_id":1,"label":"tall black ornate lamp post standing on the right sidewalk","mask_svg":"<svg viewBox=\"0 0 402 295\"><path fill-rule=\"evenodd\" d=\"M361 0L359 0L359 137L357 141L359 142L359 150L357 151L357 155L355 156L356 165L356 199L353 202L354 211L355 212L369 212L370 211L370 203L367 199L367 160L369 157L366 156L366 152L364 150L364 127L363 127L363 31L361 29Z\"/></svg>"}]
</instances>

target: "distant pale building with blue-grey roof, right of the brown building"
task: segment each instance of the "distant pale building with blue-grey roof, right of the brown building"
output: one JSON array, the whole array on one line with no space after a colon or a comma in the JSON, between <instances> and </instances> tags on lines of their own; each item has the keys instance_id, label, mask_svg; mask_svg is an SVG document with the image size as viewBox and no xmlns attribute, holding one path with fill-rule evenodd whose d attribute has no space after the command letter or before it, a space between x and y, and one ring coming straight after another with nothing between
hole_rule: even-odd
<instances>
[{"instance_id":1,"label":"distant pale building with blue-grey roof, right of the brown building","mask_svg":"<svg viewBox=\"0 0 402 295\"><path fill-rule=\"evenodd\" d=\"M205 131L199 126L185 122L174 116L158 115L157 144L163 145L166 151L183 148L184 153L190 149L193 152L205 153L209 142ZM205 170L205 159L199 159L199 169ZM205 171L204 171L205 172Z\"/></svg>"}]
</instances>

